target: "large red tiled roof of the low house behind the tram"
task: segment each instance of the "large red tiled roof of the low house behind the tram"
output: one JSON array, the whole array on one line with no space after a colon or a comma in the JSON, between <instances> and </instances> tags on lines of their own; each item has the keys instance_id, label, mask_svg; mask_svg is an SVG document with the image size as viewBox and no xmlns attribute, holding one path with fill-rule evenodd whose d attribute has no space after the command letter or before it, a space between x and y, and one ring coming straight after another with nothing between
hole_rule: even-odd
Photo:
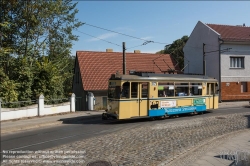
<instances>
[{"instance_id":1,"label":"large red tiled roof of the low house behind the tram","mask_svg":"<svg viewBox=\"0 0 250 166\"><path fill-rule=\"evenodd\" d=\"M106 90L111 74L117 71L122 74L121 52L77 51L76 56L84 90ZM160 69L153 63L154 59ZM171 69L179 70L169 54L126 53L126 73L129 70L162 73L160 70L169 69L163 60Z\"/></svg>"}]
</instances>

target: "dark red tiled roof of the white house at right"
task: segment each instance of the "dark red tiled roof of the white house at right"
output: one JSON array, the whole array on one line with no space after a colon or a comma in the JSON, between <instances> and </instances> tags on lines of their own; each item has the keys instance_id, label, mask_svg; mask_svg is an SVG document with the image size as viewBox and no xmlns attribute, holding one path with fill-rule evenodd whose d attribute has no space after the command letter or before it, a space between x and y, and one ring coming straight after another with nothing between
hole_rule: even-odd
<instances>
[{"instance_id":1,"label":"dark red tiled roof of the white house at right","mask_svg":"<svg viewBox=\"0 0 250 166\"><path fill-rule=\"evenodd\" d=\"M250 27L207 24L210 28L221 35L224 41L249 42Z\"/></svg>"}]
</instances>

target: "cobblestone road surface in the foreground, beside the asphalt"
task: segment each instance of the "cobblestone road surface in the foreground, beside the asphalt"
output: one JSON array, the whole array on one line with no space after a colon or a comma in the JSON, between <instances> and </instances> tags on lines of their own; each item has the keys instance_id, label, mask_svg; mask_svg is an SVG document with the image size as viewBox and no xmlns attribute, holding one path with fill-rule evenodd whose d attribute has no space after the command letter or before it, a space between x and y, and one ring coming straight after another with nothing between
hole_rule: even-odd
<instances>
[{"instance_id":1,"label":"cobblestone road surface in the foreground, beside the asphalt","mask_svg":"<svg viewBox=\"0 0 250 166\"><path fill-rule=\"evenodd\" d=\"M95 160L105 160L119 166L188 165L197 159L201 152L213 148L220 141L249 126L250 113L206 118L201 116L176 122L167 122L166 119L159 124L123 130L47 151L84 151L83 157L79 160L85 165ZM197 151L197 147L201 147L202 151ZM52 162L56 165L56 160L59 158L43 158L42 162ZM65 163L69 161L68 164L63 165L79 165L70 163L72 158L63 160ZM13 165L14 162L10 163L10 161L3 165ZM17 164L27 165L28 163ZM29 165L46 165L46 163L31 162ZM62 164L57 163L57 165Z\"/></svg>"}]
</instances>

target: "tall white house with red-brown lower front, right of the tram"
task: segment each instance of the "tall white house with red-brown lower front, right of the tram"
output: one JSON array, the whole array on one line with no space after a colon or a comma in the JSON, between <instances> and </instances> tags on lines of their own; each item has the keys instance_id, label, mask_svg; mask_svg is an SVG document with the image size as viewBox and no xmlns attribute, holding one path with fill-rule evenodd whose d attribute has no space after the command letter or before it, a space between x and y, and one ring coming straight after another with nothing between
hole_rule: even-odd
<instances>
[{"instance_id":1,"label":"tall white house with red-brown lower front, right of the tram","mask_svg":"<svg viewBox=\"0 0 250 166\"><path fill-rule=\"evenodd\" d=\"M198 21L184 51L184 73L218 79L220 101L250 99L250 27Z\"/></svg>"}]
</instances>

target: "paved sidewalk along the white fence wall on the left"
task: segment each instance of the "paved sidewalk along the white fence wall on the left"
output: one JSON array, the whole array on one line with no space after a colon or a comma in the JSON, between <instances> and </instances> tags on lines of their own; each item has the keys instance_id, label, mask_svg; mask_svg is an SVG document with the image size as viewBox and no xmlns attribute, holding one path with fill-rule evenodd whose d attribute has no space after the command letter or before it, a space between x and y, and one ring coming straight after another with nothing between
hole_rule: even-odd
<instances>
[{"instance_id":1,"label":"paved sidewalk along the white fence wall on the left","mask_svg":"<svg viewBox=\"0 0 250 166\"><path fill-rule=\"evenodd\" d=\"M11 133L22 130L29 130L39 127L55 126L66 121L72 120L91 120L101 119L101 114L104 110L100 111L76 111L74 113L65 113L59 115L48 115L41 117L24 118L17 120L8 120L1 122L1 134Z\"/></svg>"}]
</instances>

